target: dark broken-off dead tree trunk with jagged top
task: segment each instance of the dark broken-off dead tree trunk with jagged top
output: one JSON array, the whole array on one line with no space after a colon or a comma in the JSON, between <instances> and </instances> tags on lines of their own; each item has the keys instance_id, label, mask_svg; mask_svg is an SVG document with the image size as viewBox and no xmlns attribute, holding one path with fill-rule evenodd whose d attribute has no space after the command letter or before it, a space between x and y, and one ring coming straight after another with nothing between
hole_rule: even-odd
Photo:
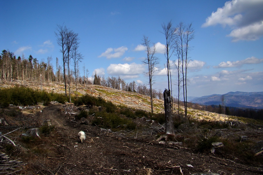
<instances>
[{"instance_id":1,"label":"dark broken-off dead tree trunk with jagged top","mask_svg":"<svg viewBox=\"0 0 263 175\"><path fill-rule=\"evenodd\" d=\"M170 90L165 89L163 92L165 106L165 133L174 135L174 125L172 116L172 98Z\"/></svg>"}]
</instances>

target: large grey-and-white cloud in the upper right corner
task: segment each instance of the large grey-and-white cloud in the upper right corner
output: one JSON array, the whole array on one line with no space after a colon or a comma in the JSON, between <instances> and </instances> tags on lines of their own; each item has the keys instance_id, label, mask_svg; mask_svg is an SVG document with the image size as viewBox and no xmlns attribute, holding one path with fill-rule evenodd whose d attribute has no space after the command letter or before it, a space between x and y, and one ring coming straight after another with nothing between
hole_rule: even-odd
<instances>
[{"instance_id":1,"label":"large grey-and-white cloud in the upper right corner","mask_svg":"<svg viewBox=\"0 0 263 175\"><path fill-rule=\"evenodd\" d=\"M207 17L202 27L221 24L233 30L232 41L257 40L263 35L263 1L232 0Z\"/></svg>"}]
</instances>

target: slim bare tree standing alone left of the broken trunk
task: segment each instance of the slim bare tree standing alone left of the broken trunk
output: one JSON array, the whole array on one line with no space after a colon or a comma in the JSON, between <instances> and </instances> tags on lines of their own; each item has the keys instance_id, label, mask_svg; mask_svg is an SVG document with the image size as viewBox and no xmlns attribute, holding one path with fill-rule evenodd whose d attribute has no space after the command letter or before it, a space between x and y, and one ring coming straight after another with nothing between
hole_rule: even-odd
<instances>
[{"instance_id":1,"label":"slim bare tree standing alone left of the broken trunk","mask_svg":"<svg viewBox=\"0 0 263 175\"><path fill-rule=\"evenodd\" d=\"M143 36L142 41L142 45L146 46L147 57L143 60L143 63L148 65L148 72L145 72L145 74L149 76L151 111L153 113L153 74L157 71L156 65L159 64L159 61L158 58L154 56L155 46L153 45L153 49L150 48L150 40L148 37Z\"/></svg>"}]
</instances>

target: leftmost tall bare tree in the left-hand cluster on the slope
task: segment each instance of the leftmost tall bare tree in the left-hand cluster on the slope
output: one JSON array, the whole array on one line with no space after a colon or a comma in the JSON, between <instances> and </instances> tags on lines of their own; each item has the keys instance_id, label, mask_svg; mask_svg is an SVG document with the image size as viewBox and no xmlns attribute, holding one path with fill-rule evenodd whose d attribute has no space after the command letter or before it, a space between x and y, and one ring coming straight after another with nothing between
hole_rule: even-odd
<instances>
[{"instance_id":1,"label":"leftmost tall bare tree in the left-hand cluster on the slope","mask_svg":"<svg viewBox=\"0 0 263 175\"><path fill-rule=\"evenodd\" d=\"M62 53L63 60L63 76L65 83L65 96L67 97L67 82L66 82L66 51L67 51L67 42L66 42L66 34L68 33L68 29L64 25L57 25L57 32L55 32L57 37L58 45L61 47L60 52Z\"/></svg>"}]
</instances>

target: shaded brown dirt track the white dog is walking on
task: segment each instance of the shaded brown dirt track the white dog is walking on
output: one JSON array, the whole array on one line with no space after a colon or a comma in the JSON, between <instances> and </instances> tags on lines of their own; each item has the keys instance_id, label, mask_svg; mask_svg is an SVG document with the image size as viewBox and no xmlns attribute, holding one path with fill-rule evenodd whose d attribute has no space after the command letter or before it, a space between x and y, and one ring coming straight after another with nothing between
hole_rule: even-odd
<instances>
[{"instance_id":1,"label":"shaded brown dirt track the white dog is walking on","mask_svg":"<svg viewBox=\"0 0 263 175\"><path fill-rule=\"evenodd\" d=\"M56 126L57 155L53 159L57 174L181 175L180 168L185 175L208 171L220 175L263 174L259 166L239 160L180 150L157 141L125 139L98 127L71 122L61 112L62 106L52 104L39 113L39 118L50 119ZM86 133L83 144L77 140L80 130Z\"/></svg>"}]
</instances>

